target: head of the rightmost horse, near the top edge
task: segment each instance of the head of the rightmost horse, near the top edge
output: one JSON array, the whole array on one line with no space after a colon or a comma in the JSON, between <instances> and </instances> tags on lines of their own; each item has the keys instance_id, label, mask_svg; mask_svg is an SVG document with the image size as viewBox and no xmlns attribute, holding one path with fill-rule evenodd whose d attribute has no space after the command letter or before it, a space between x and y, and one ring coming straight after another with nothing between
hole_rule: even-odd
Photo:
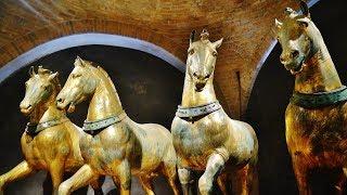
<instances>
[{"instance_id":1,"label":"head of the rightmost horse, near the top edge","mask_svg":"<svg viewBox=\"0 0 347 195\"><path fill-rule=\"evenodd\" d=\"M285 9L283 22L275 20L277 38L282 47L281 63L293 75L303 70L304 64L317 52L321 35L311 21L306 2L300 1L301 12Z\"/></svg>"}]
</instances>

